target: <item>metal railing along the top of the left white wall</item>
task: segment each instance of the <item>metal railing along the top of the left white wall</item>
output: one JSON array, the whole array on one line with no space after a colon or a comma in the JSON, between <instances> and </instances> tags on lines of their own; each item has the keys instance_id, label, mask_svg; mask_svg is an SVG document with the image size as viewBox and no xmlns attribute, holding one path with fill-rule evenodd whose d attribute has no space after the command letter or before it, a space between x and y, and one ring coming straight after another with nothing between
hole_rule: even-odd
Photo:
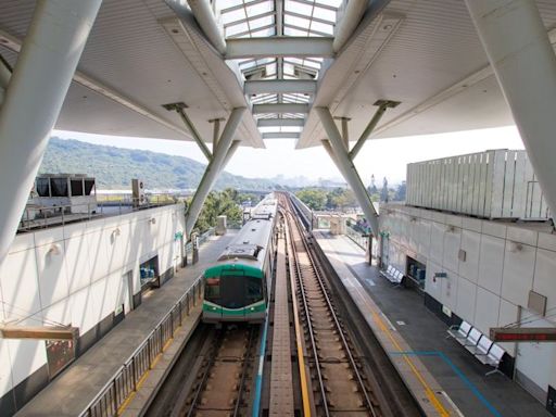
<instances>
[{"instance_id":1,"label":"metal railing along the top of the left white wall","mask_svg":"<svg viewBox=\"0 0 556 417\"><path fill-rule=\"evenodd\" d=\"M110 197L111 199L108 199ZM137 199L136 199L137 200ZM139 210L176 204L179 200L169 195L151 195L143 204L137 204L130 195L97 197L97 201L67 205L28 205L25 207L17 231L64 226L97 217L118 216Z\"/></svg>"}]
</instances>

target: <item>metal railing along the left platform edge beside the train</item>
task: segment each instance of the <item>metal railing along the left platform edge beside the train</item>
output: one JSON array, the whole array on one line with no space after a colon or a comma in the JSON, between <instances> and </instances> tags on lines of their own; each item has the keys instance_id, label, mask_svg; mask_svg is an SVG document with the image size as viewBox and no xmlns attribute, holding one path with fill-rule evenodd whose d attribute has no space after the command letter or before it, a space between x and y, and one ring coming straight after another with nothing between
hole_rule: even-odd
<instances>
[{"instance_id":1,"label":"metal railing along the left platform edge beside the train","mask_svg":"<svg viewBox=\"0 0 556 417\"><path fill-rule=\"evenodd\" d=\"M85 410L79 414L79 417L113 417L119 415L122 404L131 392L137 391L139 380L151 369L154 359L162 353L166 342L174 337L184 319L189 316L191 307L200 302L202 293L203 280L202 277L199 277Z\"/></svg>"}]
</instances>

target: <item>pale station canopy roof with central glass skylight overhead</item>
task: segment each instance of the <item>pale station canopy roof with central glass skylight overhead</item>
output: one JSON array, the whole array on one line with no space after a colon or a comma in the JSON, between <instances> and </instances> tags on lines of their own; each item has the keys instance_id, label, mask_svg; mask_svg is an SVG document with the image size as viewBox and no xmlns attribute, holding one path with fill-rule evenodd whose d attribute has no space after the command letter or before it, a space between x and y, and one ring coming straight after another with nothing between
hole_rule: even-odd
<instances>
[{"instance_id":1,"label":"pale station canopy roof with central glass skylight overhead","mask_svg":"<svg viewBox=\"0 0 556 417\"><path fill-rule=\"evenodd\" d=\"M104 0L56 128L192 140L163 108L176 102L207 142L214 121L248 108L237 139L256 148L280 138L319 146L326 134L316 106L349 119L355 140L378 100L400 105L370 139L514 123L464 1L362 1L338 49L350 27L345 0L205 2L220 40L194 10L202 1ZM556 2L536 3L555 45ZM0 54L12 66L35 5L2 1Z\"/></svg>"}]
</instances>

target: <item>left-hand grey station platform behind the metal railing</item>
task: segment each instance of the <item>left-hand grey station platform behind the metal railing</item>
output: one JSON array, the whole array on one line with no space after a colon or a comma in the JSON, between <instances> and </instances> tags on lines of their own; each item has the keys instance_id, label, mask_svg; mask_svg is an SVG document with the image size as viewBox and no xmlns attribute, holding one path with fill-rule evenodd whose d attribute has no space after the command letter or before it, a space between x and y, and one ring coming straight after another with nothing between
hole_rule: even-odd
<instances>
[{"instance_id":1,"label":"left-hand grey station platform behind the metal railing","mask_svg":"<svg viewBox=\"0 0 556 417\"><path fill-rule=\"evenodd\" d=\"M222 253L232 237L233 230L222 237L208 238L200 248L198 263L179 269L164 286L148 293L141 305L127 314L122 323L71 364L16 415L34 417L80 415L136 349L149 337L191 283ZM200 314L201 303L198 303L197 308L191 311L188 317L192 323L182 325L181 329L185 331L179 334L179 338L175 337L168 342L168 346L165 349L168 354L176 350L172 343L187 341ZM164 363L164 358L160 362ZM156 370L151 369L151 374L156 374ZM146 376L147 379L149 377ZM157 377L162 378L162 375ZM132 404L140 403L141 400L144 399L139 393L129 402L131 404L126 403L125 405L127 408L132 408ZM126 416L134 415L125 409L118 412Z\"/></svg>"}]
</instances>

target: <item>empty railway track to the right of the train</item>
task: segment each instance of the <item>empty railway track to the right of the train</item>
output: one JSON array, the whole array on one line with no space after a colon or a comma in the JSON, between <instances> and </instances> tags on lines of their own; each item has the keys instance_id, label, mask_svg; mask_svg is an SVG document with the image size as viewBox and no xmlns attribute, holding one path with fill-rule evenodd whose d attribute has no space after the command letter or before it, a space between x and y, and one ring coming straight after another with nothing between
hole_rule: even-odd
<instances>
[{"instance_id":1,"label":"empty railway track to the right of the train","mask_svg":"<svg viewBox=\"0 0 556 417\"><path fill-rule=\"evenodd\" d=\"M319 416L387 416L367 377L349 334L325 286L321 268L307 239L282 197L288 226L288 260L295 278L296 294L309 351L314 406ZM293 289L292 289L293 290Z\"/></svg>"}]
</instances>

